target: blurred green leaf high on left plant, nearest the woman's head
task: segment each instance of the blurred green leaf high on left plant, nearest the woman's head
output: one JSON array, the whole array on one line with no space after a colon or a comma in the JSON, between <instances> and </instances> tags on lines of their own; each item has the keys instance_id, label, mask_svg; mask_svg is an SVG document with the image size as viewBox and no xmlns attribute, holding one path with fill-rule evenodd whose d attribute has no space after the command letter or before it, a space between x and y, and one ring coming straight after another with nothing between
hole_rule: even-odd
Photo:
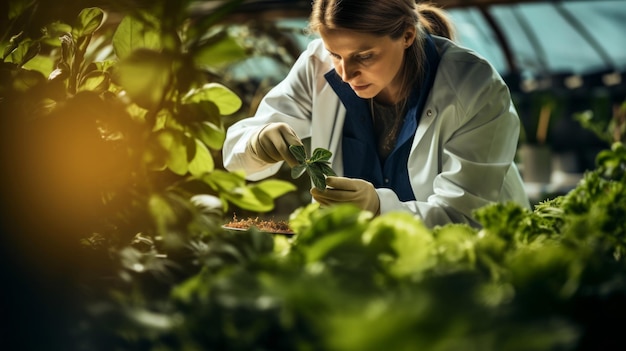
<instances>
[{"instance_id":1,"label":"blurred green leaf high on left plant, nearest the woman's head","mask_svg":"<svg viewBox=\"0 0 626 351\"><path fill-rule=\"evenodd\" d=\"M246 50L228 35L207 42L193 55L196 66L207 69L220 69L247 57Z\"/></svg>"}]
</instances>

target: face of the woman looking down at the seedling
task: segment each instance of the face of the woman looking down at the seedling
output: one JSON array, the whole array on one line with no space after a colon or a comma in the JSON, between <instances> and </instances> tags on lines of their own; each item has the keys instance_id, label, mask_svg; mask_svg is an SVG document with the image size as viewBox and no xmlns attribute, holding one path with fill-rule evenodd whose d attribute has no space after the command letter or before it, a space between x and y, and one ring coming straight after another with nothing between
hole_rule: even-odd
<instances>
[{"instance_id":1,"label":"face of the woman looking down at the seedling","mask_svg":"<svg viewBox=\"0 0 626 351\"><path fill-rule=\"evenodd\" d=\"M320 35L335 70L359 97L382 103L400 99L398 73L405 49L415 40L414 29L396 40L344 29L321 30Z\"/></svg>"}]
</instances>

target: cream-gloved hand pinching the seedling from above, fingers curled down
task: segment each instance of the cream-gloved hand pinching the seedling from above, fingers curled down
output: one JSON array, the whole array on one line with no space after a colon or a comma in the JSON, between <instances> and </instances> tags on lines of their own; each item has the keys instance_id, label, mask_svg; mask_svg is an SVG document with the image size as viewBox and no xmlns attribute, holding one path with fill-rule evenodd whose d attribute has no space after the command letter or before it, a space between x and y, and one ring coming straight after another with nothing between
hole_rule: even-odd
<instances>
[{"instance_id":1,"label":"cream-gloved hand pinching the seedling from above, fingers curled down","mask_svg":"<svg viewBox=\"0 0 626 351\"><path fill-rule=\"evenodd\" d=\"M289 145L302 145L302 141L287 123L274 122L248 140L247 150L267 163L285 160L289 167L293 167L298 160L289 151Z\"/></svg>"}]
</instances>

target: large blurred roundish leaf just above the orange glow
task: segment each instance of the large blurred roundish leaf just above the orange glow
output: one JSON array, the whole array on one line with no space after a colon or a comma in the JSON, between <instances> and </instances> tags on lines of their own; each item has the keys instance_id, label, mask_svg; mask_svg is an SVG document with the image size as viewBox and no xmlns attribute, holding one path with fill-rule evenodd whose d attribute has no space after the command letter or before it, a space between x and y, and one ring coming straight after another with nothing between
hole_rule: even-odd
<instances>
[{"instance_id":1,"label":"large blurred roundish leaf just above the orange glow","mask_svg":"<svg viewBox=\"0 0 626 351\"><path fill-rule=\"evenodd\" d=\"M169 58L156 51L141 49L119 63L115 81L137 105L153 109L160 104L171 74Z\"/></svg>"}]
</instances>

